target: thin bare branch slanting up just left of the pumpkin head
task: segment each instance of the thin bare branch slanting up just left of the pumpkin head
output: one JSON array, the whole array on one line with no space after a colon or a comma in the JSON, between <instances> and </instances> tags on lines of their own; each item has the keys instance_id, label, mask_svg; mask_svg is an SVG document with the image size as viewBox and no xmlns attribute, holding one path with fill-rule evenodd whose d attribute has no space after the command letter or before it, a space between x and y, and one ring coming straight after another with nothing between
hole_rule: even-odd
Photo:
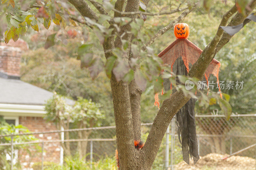
<instances>
[{"instance_id":1,"label":"thin bare branch slanting up just left of the pumpkin head","mask_svg":"<svg viewBox=\"0 0 256 170\"><path fill-rule=\"evenodd\" d=\"M192 8L191 10L186 10L184 12L182 12L180 14L180 16L178 18L176 18L174 21L172 21L169 25L165 26L164 28L160 29L153 37L150 38L150 40L148 42L146 42L146 44L144 46L142 46L142 50L145 51L146 47L148 47L149 45L151 45L153 42L155 42L158 37L160 37L161 35L163 35L166 31L168 31L169 29L171 29L175 24L177 24L182 18L184 18L188 13L190 13L191 11L193 11L194 8Z\"/></svg>"}]
</instances>

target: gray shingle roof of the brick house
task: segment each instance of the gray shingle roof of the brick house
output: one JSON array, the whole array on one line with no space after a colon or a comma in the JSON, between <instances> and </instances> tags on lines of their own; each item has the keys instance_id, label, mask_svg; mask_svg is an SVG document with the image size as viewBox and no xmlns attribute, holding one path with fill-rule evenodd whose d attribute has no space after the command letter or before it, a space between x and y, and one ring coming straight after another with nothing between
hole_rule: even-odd
<instances>
[{"instance_id":1,"label":"gray shingle roof of the brick house","mask_svg":"<svg viewBox=\"0 0 256 170\"><path fill-rule=\"evenodd\" d=\"M0 77L0 103L44 105L52 95L52 92L21 80ZM67 99L66 103L73 105L75 102Z\"/></svg>"}]
</instances>

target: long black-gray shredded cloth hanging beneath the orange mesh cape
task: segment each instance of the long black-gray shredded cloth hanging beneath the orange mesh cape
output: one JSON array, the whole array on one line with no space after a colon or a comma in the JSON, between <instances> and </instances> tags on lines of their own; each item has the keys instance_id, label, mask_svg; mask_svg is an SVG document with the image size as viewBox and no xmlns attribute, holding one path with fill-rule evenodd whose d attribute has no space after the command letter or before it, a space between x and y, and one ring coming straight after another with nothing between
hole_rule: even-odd
<instances>
[{"instance_id":1,"label":"long black-gray shredded cloth hanging beneath the orange mesh cape","mask_svg":"<svg viewBox=\"0 0 256 170\"><path fill-rule=\"evenodd\" d=\"M187 75L186 66L183 63L181 57L177 58L172 66L172 71L176 75ZM179 83L179 80L177 80ZM165 91L170 90L169 79L164 79ZM173 89L173 93L175 89ZM183 160L189 164L189 155L193 160L194 164L199 160L197 138L196 138L196 122L195 122L195 102L196 99L190 99L176 114L177 126L178 126L178 137L182 147ZM180 138L181 137L181 138Z\"/></svg>"}]
</instances>

